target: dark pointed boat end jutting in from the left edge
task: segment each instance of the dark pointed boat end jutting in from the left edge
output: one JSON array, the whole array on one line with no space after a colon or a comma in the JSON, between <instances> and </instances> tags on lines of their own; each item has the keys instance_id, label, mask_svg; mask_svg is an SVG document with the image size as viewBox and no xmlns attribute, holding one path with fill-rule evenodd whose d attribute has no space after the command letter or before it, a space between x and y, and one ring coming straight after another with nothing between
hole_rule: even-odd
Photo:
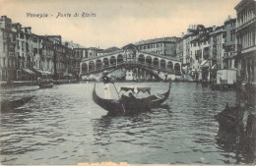
<instances>
[{"instance_id":1,"label":"dark pointed boat end jutting in from the left edge","mask_svg":"<svg viewBox=\"0 0 256 166\"><path fill-rule=\"evenodd\" d=\"M23 105L25 105L26 103L28 103L29 101L32 100L32 97L23 97L21 99L17 99L17 100L2 100L1 101L1 111L8 111L8 110L12 110L14 108L18 108L21 107Z\"/></svg>"}]
</instances>

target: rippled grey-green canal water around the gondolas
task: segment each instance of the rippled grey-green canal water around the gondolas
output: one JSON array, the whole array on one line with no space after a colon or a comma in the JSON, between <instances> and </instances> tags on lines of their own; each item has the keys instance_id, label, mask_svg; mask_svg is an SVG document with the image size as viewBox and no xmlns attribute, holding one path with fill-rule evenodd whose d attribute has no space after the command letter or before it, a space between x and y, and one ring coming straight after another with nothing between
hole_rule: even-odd
<instances>
[{"instance_id":1,"label":"rippled grey-green canal water around the gondolas","mask_svg":"<svg viewBox=\"0 0 256 166\"><path fill-rule=\"evenodd\" d=\"M117 88L124 84L115 83ZM150 85L152 93L167 83ZM117 98L111 86L112 97ZM34 96L15 110L1 112L2 164L248 164L252 153L233 136L221 135L214 116L225 103L235 104L235 91L213 91L196 83L172 83L170 96L158 109L133 116L108 116L92 98L94 83L6 87L1 98ZM102 84L96 86L102 95Z\"/></svg>"}]
</instances>

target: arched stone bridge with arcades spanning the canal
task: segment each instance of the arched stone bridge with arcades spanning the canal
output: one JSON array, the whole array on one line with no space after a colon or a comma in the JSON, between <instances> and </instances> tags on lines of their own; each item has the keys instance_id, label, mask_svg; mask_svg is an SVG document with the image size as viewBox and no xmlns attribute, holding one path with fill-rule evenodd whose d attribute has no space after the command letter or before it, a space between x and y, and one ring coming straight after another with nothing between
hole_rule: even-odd
<instances>
[{"instance_id":1,"label":"arched stone bridge with arcades spanning the canal","mask_svg":"<svg viewBox=\"0 0 256 166\"><path fill-rule=\"evenodd\" d=\"M83 59L80 64L83 79L97 79L102 72L115 74L123 80L174 80L180 77L181 62L173 57L142 52L129 44L115 52Z\"/></svg>"}]
</instances>

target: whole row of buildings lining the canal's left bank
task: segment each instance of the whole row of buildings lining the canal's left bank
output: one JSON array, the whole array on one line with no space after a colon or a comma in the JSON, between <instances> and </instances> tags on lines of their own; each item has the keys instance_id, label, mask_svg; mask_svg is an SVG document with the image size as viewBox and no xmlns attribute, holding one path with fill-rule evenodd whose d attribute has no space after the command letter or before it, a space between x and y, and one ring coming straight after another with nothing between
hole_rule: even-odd
<instances>
[{"instance_id":1,"label":"whole row of buildings lining the canal's left bank","mask_svg":"<svg viewBox=\"0 0 256 166\"><path fill-rule=\"evenodd\" d=\"M88 54L88 49L62 44L60 35L37 35L6 16L0 19L0 82L78 79Z\"/></svg>"}]
</instances>

